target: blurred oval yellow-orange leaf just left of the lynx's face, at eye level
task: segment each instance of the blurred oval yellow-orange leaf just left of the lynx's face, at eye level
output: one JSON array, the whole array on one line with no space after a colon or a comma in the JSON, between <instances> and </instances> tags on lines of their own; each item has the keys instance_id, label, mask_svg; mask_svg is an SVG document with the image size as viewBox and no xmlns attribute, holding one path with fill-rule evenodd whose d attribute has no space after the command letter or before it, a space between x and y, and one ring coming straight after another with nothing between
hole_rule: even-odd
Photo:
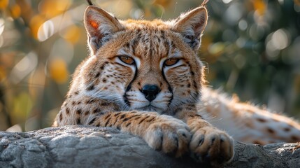
<instances>
[{"instance_id":1,"label":"blurred oval yellow-orange leaf just left of the lynx's face, at eye level","mask_svg":"<svg viewBox=\"0 0 300 168\"><path fill-rule=\"evenodd\" d=\"M57 83L65 83L68 80L69 71L63 59L55 58L49 64L50 76Z\"/></svg>"}]
</instances>

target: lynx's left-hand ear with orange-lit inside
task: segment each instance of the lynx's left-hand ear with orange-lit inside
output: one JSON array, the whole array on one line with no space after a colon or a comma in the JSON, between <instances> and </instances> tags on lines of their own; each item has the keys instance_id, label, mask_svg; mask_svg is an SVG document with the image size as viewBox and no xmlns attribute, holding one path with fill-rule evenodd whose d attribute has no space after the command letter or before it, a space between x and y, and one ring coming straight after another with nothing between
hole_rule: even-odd
<instances>
[{"instance_id":1,"label":"lynx's left-hand ear with orange-lit inside","mask_svg":"<svg viewBox=\"0 0 300 168\"><path fill-rule=\"evenodd\" d=\"M84 22L92 55L97 52L103 43L110 40L115 32L124 29L117 18L96 6L87 7Z\"/></svg>"}]
</instances>

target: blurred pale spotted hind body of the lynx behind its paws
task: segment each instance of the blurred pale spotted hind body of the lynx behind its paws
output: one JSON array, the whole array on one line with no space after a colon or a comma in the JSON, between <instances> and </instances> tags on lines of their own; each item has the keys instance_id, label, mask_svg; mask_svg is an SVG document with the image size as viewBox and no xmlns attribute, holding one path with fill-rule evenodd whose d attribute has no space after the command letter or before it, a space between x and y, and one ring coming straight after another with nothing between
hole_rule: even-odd
<instances>
[{"instance_id":1,"label":"blurred pale spotted hind body of the lynx behind its paws","mask_svg":"<svg viewBox=\"0 0 300 168\"><path fill-rule=\"evenodd\" d=\"M206 88L202 91L201 114L226 130L237 141L253 144L300 141L300 125L291 118L230 99Z\"/></svg>"}]
</instances>

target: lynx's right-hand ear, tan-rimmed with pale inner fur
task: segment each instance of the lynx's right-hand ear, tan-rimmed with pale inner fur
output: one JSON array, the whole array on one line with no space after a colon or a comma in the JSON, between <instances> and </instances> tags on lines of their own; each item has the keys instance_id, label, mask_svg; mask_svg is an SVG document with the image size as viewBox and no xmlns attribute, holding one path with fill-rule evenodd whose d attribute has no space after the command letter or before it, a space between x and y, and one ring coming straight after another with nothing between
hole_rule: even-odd
<instances>
[{"instance_id":1,"label":"lynx's right-hand ear, tan-rimmed with pale inner fur","mask_svg":"<svg viewBox=\"0 0 300 168\"><path fill-rule=\"evenodd\" d=\"M184 41L195 51L201 43L201 35L207 23L207 10L200 6L188 13L180 15L173 29L183 35Z\"/></svg>"}]
</instances>

